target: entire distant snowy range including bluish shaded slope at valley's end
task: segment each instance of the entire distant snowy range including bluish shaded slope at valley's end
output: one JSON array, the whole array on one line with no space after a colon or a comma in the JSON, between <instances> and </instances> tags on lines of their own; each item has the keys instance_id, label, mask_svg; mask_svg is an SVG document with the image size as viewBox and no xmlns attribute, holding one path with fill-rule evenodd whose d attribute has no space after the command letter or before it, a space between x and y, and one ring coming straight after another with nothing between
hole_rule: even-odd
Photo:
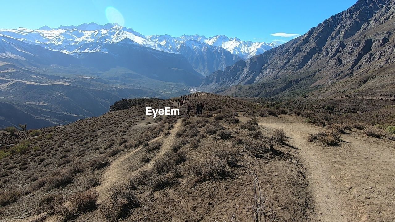
<instances>
[{"instance_id":1,"label":"entire distant snowy range including bluish shaded slope at valley's end","mask_svg":"<svg viewBox=\"0 0 395 222\"><path fill-rule=\"evenodd\" d=\"M25 43L40 45L45 49L76 55L81 53L108 53L109 44L128 42L131 45L148 47L165 53L183 55L190 65L202 75L223 70L240 59L248 59L280 45L278 42L241 41L223 35L169 35L143 36L131 28L108 23L84 23L79 26L43 26L37 30L17 28L0 29L0 34Z\"/></svg>"}]
</instances>

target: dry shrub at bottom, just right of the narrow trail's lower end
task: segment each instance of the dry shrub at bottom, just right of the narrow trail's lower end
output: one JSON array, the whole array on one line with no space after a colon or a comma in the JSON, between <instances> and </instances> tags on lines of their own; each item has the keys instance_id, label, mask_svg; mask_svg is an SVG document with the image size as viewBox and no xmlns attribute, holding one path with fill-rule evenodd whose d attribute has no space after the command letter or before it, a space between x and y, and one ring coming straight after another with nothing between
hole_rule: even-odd
<instances>
[{"instance_id":1,"label":"dry shrub at bottom, just right of the narrow trail's lower end","mask_svg":"<svg viewBox=\"0 0 395 222\"><path fill-rule=\"evenodd\" d=\"M108 221L118 221L126 217L130 210L139 206L134 190L123 185L113 185L108 189L110 199L102 207L102 216Z\"/></svg>"}]
</instances>

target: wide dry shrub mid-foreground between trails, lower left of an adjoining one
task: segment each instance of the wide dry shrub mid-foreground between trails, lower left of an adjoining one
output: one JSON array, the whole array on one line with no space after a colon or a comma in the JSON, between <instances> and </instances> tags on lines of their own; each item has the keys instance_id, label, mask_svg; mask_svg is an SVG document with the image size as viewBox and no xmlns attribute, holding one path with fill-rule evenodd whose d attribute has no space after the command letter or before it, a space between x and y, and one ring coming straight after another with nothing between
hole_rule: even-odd
<instances>
[{"instance_id":1,"label":"wide dry shrub mid-foreground between trails, lower left of an adjoining one","mask_svg":"<svg viewBox=\"0 0 395 222\"><path fill-rule=\"evenodd\" d=\"M197 163L191 167L195 177L194 184L215 179L226 173L226 161L219 158L211 158L205 162Z\"/></svg>"}]
</instances>

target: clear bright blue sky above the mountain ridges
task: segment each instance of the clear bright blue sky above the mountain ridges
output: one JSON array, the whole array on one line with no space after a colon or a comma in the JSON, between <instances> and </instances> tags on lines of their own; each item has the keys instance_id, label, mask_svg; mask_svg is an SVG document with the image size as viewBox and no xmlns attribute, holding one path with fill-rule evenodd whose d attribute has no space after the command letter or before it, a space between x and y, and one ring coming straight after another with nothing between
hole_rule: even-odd
<instances>
[{"instance_id":1,"label":"clear bright blue sky above the mountain ridges","mask_svg":"<svg viewBox=\"0 0 395 222\"><path fill-rule=\"evenodd\" d=\"M123 23L143 35L199 34L209 37L224 34L245 41L290 40L355 2L356 0L0 0L0 28L40 28L43 25L55 28L90 22L106 24L110 20Z\"/></svg>"}]
</instances>

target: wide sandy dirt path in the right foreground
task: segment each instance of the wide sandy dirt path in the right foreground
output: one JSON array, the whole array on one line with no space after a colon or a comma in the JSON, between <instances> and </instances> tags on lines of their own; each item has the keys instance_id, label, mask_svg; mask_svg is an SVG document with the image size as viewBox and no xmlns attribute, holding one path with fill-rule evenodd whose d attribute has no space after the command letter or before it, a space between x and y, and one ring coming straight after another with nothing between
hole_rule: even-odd
<instances>
[{"instance_id":1,"label":"wide sandy dirt path in the right foreground","mask_svg":"<svg viewBox=\"0 0 395 222\"><path fill-rule=\"evenodd\" d=\"M308 171L316 221L395 221L395 142L353 131L342 134L338 147L324 147L305 137L325 129L301 117L259 117L258 122L282 127L290 137Z\"/></svg>"}]
</instances>

